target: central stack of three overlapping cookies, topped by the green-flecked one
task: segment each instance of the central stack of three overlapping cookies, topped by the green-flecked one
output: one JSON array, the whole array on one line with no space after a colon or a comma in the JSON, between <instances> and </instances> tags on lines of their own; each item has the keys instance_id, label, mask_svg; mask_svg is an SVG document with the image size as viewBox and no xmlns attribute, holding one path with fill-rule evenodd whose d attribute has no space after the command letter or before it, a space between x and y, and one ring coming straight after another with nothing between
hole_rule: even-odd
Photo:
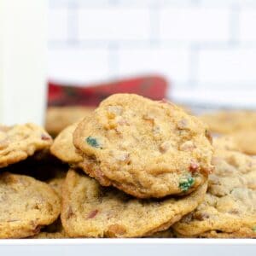
<instances>
[{"instance_id":1,"label":"central stack of three overlapping cookies, topped by the green-flecked one","mask_svg":"<svg viewBox=\"0 0 256 256\"><path fill-rule=\"evenodd\" d=\"M167 230L203 201L212 171L206 126L169 102L136 95L110 96L50 151L73 168L61 211L71 237Z\"/></svg>"}]
</instances>

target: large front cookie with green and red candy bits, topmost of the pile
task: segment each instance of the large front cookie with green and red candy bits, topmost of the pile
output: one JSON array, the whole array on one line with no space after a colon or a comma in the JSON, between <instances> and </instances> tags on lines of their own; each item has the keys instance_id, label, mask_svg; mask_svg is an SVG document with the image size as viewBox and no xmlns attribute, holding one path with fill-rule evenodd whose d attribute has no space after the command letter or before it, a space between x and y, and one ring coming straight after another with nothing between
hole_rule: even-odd
<instances>
[{"instance_id":1,"label":"large front cookie with green and red candy bits, topmost of the pile","mask_svg":"<svg viewBox=\"0 0 256 256\"><path fill-rule=\"evenodd\" d=\"M212 170L207 127L169 102L110 96L73 137L85 172L138 198L190 193Z\"/></svg>"}]
</instances>

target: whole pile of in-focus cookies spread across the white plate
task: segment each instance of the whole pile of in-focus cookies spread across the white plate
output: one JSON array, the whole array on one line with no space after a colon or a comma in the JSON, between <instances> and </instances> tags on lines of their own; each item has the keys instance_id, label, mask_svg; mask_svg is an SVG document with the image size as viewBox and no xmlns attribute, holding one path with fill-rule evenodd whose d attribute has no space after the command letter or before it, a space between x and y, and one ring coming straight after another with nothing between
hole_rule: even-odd
<instances>
[{"instance_id":1,"label":"whole pile of in-focus cookies spread across the white plate","mask_svg":"<svg viewBox=\"0 0 256 256\"><path fill-rule=\"evenodd\" d=\"M110 96L53 143L1 127L0 166L2 238L256 237L256 160L170 102Z\"/></svg>"}]
</instances>

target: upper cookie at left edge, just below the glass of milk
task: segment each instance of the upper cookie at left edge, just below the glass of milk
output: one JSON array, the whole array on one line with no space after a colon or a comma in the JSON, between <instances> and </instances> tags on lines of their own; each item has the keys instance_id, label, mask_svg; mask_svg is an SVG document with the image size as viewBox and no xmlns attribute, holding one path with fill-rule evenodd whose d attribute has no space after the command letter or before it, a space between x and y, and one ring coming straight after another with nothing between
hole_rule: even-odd
<instances>
[{"instance_id":1,"label":"upper cookie at left edge, just below the glass of milk","mask_svg":"<svg viewBox=\"0 0 256 256\"><path fill-rule=\"evenodd\" d=\"M49 149L52 138L38 125L0 126L0 168Z\"/></svg>"}]
</instances>

